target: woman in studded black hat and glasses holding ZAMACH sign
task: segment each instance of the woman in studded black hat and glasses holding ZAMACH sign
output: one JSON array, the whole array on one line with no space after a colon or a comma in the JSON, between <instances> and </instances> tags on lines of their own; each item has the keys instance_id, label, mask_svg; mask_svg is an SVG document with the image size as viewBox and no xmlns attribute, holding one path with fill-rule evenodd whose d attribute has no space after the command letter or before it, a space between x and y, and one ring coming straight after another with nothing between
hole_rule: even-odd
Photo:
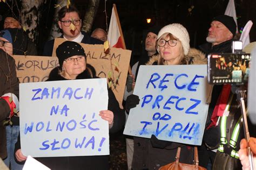
<instances>
[{"instance_id":1,"label":"woman in studded black hat and glasses holding ZAMACH sign","mask_svg":"<svg viewBox=\"0 0 256 170\"><path fill-rule=\"evenodd\" d=\"M67 51L68 50L68 51ZM54 68L47 81L77 80L97 78L87 67L85 51L77 42L65 41L56 49L59 59L59 67ZM119 104L112 90L109 90L108 110L99 112L105 121L109 122L109 132L115 133L123 128L125 123L124 111L119 108ZM24 161L21 153L20 142L16 144L16 158ZM37 158L42 164L51 169L109 169L109 156L85 156L85 157L46 157Z\"/></svg>"}]
</instances>

